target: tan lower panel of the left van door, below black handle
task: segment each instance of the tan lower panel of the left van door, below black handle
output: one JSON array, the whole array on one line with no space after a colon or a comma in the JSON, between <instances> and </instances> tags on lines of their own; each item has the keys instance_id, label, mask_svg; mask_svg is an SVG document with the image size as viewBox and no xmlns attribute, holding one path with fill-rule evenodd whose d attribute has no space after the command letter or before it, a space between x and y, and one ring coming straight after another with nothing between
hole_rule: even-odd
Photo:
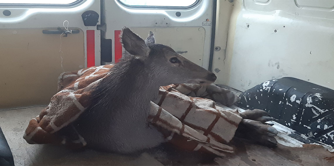
<instances>
[{"instance_id":1,"label":"tan lower panel of the left van door, below black handle","mask_svg":"<svg viewBox=\"0 0 334 166\"><path fill-rule=\"evenodd\" d=\"M60 39L42 30L0 29L0 110L47 105L59 74L85 66L82 31Z\"/></svg>"}]
</instances>

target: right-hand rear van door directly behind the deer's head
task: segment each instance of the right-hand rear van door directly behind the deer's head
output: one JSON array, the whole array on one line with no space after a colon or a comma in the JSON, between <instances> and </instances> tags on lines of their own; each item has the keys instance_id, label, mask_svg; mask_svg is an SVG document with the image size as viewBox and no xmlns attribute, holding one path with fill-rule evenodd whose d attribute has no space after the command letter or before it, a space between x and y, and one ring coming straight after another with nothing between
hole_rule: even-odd
<instances>
[{"instance_id":1,"label":"right-hand rear van door directly behind the deer's head","mask_svg":"<svg viewBox=\"0 0 334 166\"><path fill-rule=\"evenodd\" d=\"M209 68L215 1L103 0L101 3L101 21L106 25L102 40L111 40L113 50L112 58L102 58L102 63L115 63L122 57L119 35L121 28L127 26L142 38L152 31L156 43L168 45L194 63Z\"/></svg>"}]
</instances>

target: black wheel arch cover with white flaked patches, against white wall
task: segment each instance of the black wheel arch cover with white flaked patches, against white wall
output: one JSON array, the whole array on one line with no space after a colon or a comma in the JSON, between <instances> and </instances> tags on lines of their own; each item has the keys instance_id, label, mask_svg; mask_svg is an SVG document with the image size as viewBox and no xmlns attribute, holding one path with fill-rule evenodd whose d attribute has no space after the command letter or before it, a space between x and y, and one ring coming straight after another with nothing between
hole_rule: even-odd
<instances>
[{"instance_id":1,"label":"black wheel arch cover with white flaked patches, against white wall","mask_svg":"<svg viewBox=\"0 0 334 166\"><path fill-rule=\"evenodd\" d=\"M299 140L310 142L311 138L334 147L333 94L332 89L285 77L241 93L238 106L267 111L280 124L296 130L298 134L292 136Z\"/></svg>"}]
</instances>

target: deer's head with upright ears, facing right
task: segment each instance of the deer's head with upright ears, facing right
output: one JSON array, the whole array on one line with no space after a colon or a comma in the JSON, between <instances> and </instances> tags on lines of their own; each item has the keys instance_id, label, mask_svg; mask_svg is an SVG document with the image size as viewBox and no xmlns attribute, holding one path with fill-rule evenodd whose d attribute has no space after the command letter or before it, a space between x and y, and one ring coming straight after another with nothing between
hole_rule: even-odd
<instances>
[{"instance_id":1,"label":"deer's head with upright ears, facing right","mask_svg":"<svg viewBox=\"0 0 334 166\"><path fill-rule=\"evenodd\" d=\"M177 54L172 48L155 44L151 31L144 41L124 27L121 39L125 50L143 62L160 86L178 83L207 85L217 79L215 74Z\"/></svg>"}]
</instances>

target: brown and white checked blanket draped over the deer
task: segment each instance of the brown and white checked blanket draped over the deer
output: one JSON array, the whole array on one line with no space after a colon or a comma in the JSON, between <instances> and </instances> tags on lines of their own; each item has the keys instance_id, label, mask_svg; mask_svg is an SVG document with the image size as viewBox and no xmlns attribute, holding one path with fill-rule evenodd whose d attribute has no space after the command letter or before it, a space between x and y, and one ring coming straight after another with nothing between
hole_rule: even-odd
<instances>
[{"instance_id":1,"label":"brown and white checked blanket draped over the deer","mask_svg":"<svg viewBox=\"0 0 334 166\"><path fill-rule=\"evenodd\" d=\"M50 104L37 117L30 120L23 138L29 144L85 147L85 139L71 122L90 105L93 87L112 74L109 71L113 66L62 73L58 78L59 92L52 96ZM226 152L233 152L226 143L233 138L242 118L236 110L223 110L214 101L230 106L237 99L233 92L213 84L163 86L158 98L151 102L148 121L159 127L166 139L178 147L224 156Z\"/></svg>"}]
</instances>

